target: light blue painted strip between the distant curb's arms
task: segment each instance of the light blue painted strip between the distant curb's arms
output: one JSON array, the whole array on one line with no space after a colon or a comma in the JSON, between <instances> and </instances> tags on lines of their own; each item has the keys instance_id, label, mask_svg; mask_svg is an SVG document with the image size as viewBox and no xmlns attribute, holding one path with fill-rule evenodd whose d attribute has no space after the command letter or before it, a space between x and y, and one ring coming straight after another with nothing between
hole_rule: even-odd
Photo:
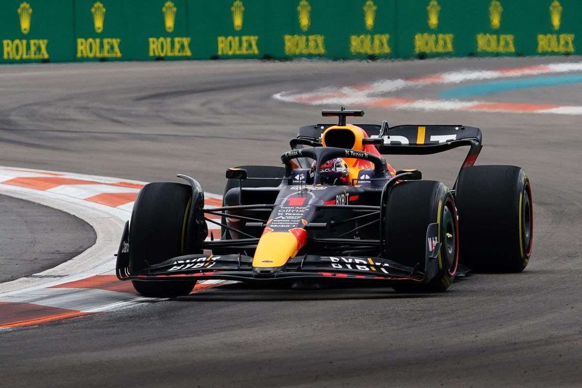
<instances>
[{"instance_id":1,"label":"light blue painted strip between the distant curb's arms","mask_svg":"<svg viewBox=\"0 0 582 388\"><path fill-rule=\"evenodd\" d=\"M441 91L443 98L464 98L474 95L502 93L516 89L528 89L545 86L558 86L582 82L582 74L567 76L535 77L528 79L488 81L480 84L459 86Z\"/></svg>"}]
</instances>

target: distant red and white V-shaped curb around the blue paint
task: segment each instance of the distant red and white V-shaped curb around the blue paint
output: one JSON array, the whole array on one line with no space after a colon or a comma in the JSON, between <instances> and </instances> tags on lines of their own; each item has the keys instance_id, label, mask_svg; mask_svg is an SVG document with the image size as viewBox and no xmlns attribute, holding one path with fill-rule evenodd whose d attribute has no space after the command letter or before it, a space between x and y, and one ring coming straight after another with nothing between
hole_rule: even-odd
<instances>
[{"instance_id":1,"label":"distant red and white V-shaped curb around the blue paint","mask_svg":"<svg viewBox=\"0 0 582 388\"><path fill-rule=\"evenodd\" d=\"M460 101L456 99L414 99L387 97L386 94L404 89L421 88L435 84L458 84L466 81L492 80L539 74L582 72L582 62L551 63L500 70L461 70L410 79L386 79L342 87L323 87L311 92L282 91L273 98L285 102L310 105L352 105L411 111L474 111L513 113L554 113L582 115L582 106L534 104L529 102Z\"/></svg>"}]
</instances>

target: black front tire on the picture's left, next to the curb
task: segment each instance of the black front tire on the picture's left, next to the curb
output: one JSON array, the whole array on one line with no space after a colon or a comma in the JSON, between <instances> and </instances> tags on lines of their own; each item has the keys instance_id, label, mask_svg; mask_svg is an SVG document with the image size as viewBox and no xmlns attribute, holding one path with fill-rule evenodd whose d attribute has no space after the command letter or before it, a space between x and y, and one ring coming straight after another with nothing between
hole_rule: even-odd
<instances>
[{"instance_id":1,"label":"black front tire on the picture's left, next to the curb","mask_svg":"<svg viewBox=\"0 0 582 388\"><path fill-rule=\"evenodd\" d=\"M186 252L187 217L190 212L191 187L180 183L146 184L133 205L129 224L129 272L136 273L148 265ZM132 280L136 291L148 297L177 297L189 294L194 281L142 282Z\"/></svg>"}]
</instances>

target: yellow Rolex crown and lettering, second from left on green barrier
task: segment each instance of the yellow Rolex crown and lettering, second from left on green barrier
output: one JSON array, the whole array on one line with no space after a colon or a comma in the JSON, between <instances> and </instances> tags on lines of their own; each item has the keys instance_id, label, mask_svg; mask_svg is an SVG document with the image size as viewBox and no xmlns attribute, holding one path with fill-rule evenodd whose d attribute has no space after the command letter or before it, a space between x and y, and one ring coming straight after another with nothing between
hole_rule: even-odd
<instances>
[{"instance_id":1,"label":"yellow Rolex crown and lettering, second from left on green barrier","mask_svg":"<svg viewBox=\"0 0 582 388\"><path fill-rule=\"evenodd\" d=\"M98 1L91 7L95 32L104 31L105 6ZM120 38L77 38L77 58L121 58Z\"/></svg>"}]
</instances>

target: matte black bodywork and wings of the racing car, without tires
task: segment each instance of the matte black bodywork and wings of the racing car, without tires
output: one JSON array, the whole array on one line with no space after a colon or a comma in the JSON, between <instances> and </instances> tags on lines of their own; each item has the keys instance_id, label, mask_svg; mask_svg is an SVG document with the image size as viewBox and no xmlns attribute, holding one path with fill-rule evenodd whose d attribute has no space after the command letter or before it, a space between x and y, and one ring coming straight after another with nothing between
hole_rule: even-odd
<instances>
[{"instance_id":1,"label":"matte black bodywork and wings of the racing car, without tires","mask_svg":"<svg viewBox=\"0 0 582 388\"><path fill-rule=\"evenodd\" d=\"M281 156L285 165L277 187L238 187L225 193L223 207L192 211L189 224L207 220L223 226L221 240L205 241L197 248L212 254L192 254L152 265L142 273L130 273L127 226L118 252L117 275L127 280L194 280L226 279L242 281L289 281L304 279L354 280L358 282L420 283L430 282L438 272L435 258L440 243L437 224L423 226L427 230L425 257L419 257L414 267L399 264L397 257L384 257L386 241L383 232L384 208L390 188L399 181L417 177L400 172L392 177L386 171L386 161L377 155L352 149L322 147L321 134L332 124L316 124L299 129L290 144L292 151ZM382 126L359 125L370 138L378 138ZM422 134L422 138L421 138ZM396 126L376 141L381 154L423 155L469 146L462 168L473 165L481 150L481 131L476 127L458 126ZM419 140L422 140L420 143ZM381 144L380 144L381 143ZM318 182L318 171L310 181L307 163L334 157L361 158L374 163L374 169L361 170L354 186L324 186ZM297 163L292 165L291 161ZM299 164L302 168L296 168ZM317 166L320 163L316 164ZM189 177L194 198L203 198L197 182ZM252 178L249 178L249 180ZM415 178L416 179L416 178ZM454 191L453 191L454 193ZM303 198L300 201L298 198ZM225 223L205 218L221 216ZM307 233L306 243L296 257L279 268L254 268L253 254L264 229L292 230ZM301 233L303 233L301 232Z\"/></svg>"}]
</instances>

